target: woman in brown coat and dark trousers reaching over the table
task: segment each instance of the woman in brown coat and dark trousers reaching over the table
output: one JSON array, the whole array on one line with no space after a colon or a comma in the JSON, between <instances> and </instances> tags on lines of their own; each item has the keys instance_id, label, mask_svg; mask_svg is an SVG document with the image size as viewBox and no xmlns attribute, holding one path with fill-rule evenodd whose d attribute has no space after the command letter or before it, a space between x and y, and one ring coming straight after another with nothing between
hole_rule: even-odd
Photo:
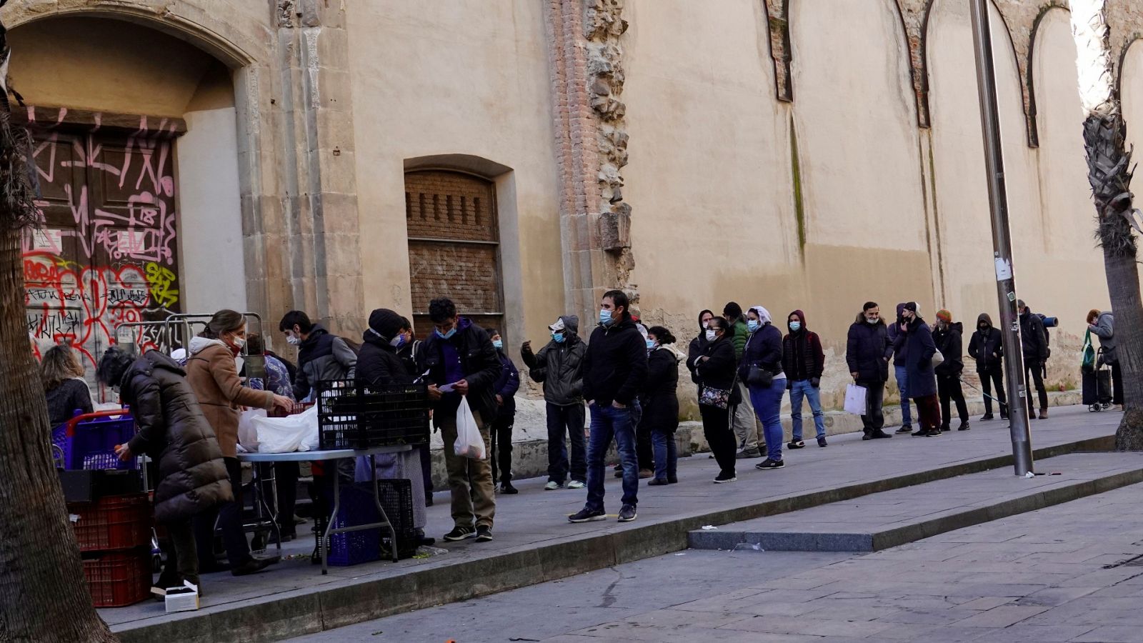
<instances>
[{"instance_id":1,"label":"woman in brown coat and dark trousers reaching over the table","mask_svg":"<svg viewBox=\"0 0 1143 643\"><path fill-rule=\"evenodd\" d=\"M217 570L214 561L215 518L222 527L222 539L234 575L263 570L274 562L250 556L249 542L242 530L242 469L238 462L238 418L242 406L290 411L294 400L271 391L242 386L234 358L246 344L246 317L233 310L219 310L206 330L191 340L186 360L186 382L194 391L202 414L214 428L234 499L195 516L199 566L203 572Z\"/></svg>"}]
</instances>

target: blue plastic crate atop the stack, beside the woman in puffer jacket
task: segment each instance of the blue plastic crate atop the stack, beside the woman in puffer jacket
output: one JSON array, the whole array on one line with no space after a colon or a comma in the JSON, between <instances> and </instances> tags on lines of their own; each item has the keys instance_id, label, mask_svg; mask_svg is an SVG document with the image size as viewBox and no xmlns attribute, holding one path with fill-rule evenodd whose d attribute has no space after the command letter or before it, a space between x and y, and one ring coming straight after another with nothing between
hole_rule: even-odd
<instances>
[{"instance_id":1,"label":"blue plastic crate atop the stack, beside the woman in puffer jacket","mask_svg":"<svg viewBox=\"0 0 1143 643\"><path fill-rule=\"evenodd\" d=\"M135 436L135 418L123 412L77 415L51 431L51 443L63 452L64 469L137 469L138 459L127 462L115 455L115 445Z\"/></svg>"}]
</instances>

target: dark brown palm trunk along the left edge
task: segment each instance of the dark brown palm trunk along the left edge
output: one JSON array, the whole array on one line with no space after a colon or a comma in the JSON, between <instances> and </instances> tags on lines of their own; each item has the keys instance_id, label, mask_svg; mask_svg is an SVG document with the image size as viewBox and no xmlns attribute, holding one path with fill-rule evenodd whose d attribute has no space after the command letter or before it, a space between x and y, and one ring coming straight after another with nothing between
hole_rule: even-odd
<instances>
[{"instance_id":1,"label":"dark brown palm trunk along the left edge","mask_svg":"<svg viewBox=\"0 0 1143 643\"><path fill-rule=\"evenodd\" d=\"M21 237L37 216L27 132L10 122L10 56L0 24L0 641L118 641L83 582L27 347Z\"/></svg>"}]
</instances>

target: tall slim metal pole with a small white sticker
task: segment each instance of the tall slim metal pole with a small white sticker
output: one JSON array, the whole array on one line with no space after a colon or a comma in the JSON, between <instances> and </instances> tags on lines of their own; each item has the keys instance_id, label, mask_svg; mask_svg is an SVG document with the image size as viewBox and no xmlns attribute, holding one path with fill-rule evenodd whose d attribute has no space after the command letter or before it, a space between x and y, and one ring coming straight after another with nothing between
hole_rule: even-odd
<instances>
[{"instance_id":1,"label":"tall slim metal pole with a small white sticker","mask_svg":"<svg viewBox=\"0 0 1143 643\"><path fill-rule=\"evenodd\" d=\"M992 58L992 27L988 0L970 0L973 42L976 53L976 88L981 100L981 130L984 137L984 167L989 180L989 206L992 214L992 247L997 272L997 299L1000 303L1000 333L1004 340L1005 378L1008 387L1008 419L1012 421L1012 454L1016 475L1032 471L1032 439L1028 427L1028 399L1024 359L1016 310L1016 279L1012 267L1012 236L1008 230L1008 192L1005 188L1004 148L1000 142L1000 113L997 109L996 65Z\"/></svg>"}]
</instances>

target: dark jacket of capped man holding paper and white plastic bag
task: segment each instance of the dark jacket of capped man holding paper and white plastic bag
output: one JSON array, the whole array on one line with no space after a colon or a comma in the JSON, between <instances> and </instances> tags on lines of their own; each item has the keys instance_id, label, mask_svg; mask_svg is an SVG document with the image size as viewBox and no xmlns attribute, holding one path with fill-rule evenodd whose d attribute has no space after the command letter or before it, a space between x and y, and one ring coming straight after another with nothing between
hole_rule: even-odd
<instances>
[{"instance_id":1,"label":"dark jacket of capped man holding paper and white plastic bag","mask_svg":"<svg viewBox=\"0 0 1143 643\"><path fill-rule=\"evenodd\" d=\"M430 333L429 338L421 344L417 372L429 371L429 375L424 380L426 384L453 383L446 374L447 367L442 348L445 342L453 346L461 359L461 372L464 373L464 379L469 382L469 406L473 412L480 413L483 423L490 423L498 411L496 391L493 386L496 384L503 368L499 356L496 354L496 347L493 346L493 341L483 328L478 327L467 317L458 317L456 333L451 338L446 340L437 333ZM459 394L445 394L437 402L434 419L439 420L440 413L455 415L459 405Z\"/></svg>"}]
</instances>

